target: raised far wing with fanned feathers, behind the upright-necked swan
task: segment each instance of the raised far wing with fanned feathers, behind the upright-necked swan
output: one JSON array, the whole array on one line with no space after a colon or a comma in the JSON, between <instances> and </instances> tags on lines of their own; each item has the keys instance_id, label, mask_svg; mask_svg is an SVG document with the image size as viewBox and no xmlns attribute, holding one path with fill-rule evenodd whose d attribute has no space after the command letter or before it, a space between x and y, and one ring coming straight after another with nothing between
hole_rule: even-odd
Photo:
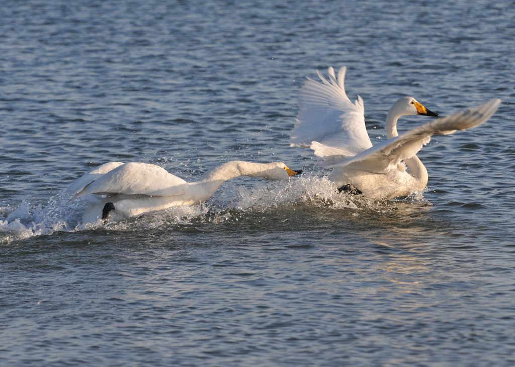
<instances>
[{"instance_id":1,"label":"raised far wing with fanned feathers, behind the upright-necked swan","mask_svg":"<svg viewBox=\"0 0 515 367\"><path fill-rule=\"evenodd\" d=\"M354 156L372 146L365 126L363 99L352 103L345 93L345 72L342 66L338 79L329 67L329 81L317 70L321 82L307 79L299 94L297 115L290 146L310 147L317 141L315 154L319 157Z\"/></svg>"}]
</instances>

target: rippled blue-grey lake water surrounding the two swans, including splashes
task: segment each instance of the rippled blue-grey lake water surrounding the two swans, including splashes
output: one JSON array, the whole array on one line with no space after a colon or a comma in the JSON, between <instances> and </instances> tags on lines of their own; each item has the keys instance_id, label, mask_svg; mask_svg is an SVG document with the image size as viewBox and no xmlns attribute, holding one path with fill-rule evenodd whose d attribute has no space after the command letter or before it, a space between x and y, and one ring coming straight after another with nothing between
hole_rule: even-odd
<instances>
[{"instance_id":1,"label":"rippled blue-grey lake water surrounding the two swans, including splashes","mask_svg":"<svg viewBox=\"0 0 515 367\"><path fill-rule=\"evenodd\" d=\"M515 363L513 1L28 0L0 16L0 364ZM363 204L288 145L305 77L330 65L373 141L401 96L440 115L503 103L424 147L422 195ZM64 195L107 161L195 180L233 159L304 174L105 226Z\"/></svg>"}]
</instances>

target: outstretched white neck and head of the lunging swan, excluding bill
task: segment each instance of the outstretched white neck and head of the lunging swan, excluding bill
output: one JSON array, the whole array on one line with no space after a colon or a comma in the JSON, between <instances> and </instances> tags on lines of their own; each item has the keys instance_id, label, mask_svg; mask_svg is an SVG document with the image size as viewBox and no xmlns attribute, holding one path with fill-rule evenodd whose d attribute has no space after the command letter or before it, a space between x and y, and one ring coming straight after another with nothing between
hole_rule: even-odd
<instances>
[{"instance_id":1,"label":"outstretched white neck and head of the lunging swan, excluding bill","mask_svg":"<svg viewBox=\"0 0 515 367\"><path fill-rule=\"evenodd\" d=\"M232 160L211 169L205 173L199 181L190 184L191 194L198 201L205 201L209 199L225 181L231 178L240 176L270 178L270 170L272 168L277 168L277 164Z\"/></svg>"}]
</instances>

